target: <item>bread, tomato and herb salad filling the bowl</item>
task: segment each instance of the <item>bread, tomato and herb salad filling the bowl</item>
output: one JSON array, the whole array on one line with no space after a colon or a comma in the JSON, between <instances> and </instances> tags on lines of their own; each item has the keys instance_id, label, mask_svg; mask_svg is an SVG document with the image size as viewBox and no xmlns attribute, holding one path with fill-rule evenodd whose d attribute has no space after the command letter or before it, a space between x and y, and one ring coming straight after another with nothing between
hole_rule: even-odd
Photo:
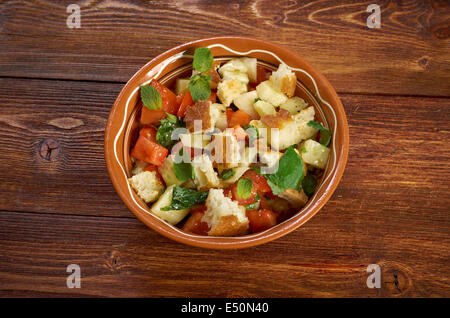
<instances>
[{"instance_id":1,"label":"bread, tomato and herb salad filling the bowl","mask_svg":"<svg viewBox=\"0 0 450 318\"><path fill-rule=\"evenodd\" d=\"M296 82L285 64L272 72L197 48L191 77L140 87L129 184L189 234L241 236L291 217L313 195L332 138Z\"/></svg>"}]
</instances>

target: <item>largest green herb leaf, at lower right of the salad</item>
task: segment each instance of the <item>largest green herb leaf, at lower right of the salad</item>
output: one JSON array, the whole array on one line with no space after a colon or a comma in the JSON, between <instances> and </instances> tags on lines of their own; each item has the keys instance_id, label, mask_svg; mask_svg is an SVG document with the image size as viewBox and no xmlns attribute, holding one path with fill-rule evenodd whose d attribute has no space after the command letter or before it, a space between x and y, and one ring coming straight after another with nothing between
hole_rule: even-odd
<instances>
[{"instance_id":1,"label":"largest green herb leaf, at lower right of the salad","mask_svg":"<svg viewBox=\"0 0 450 318\"><path fill-rule=\"evenodd\" d=\"M297 189L304 177L303 160L291 146L280 158L278 170L264 177L275 195L286 189Z\"/></svg>"}]
</instances>

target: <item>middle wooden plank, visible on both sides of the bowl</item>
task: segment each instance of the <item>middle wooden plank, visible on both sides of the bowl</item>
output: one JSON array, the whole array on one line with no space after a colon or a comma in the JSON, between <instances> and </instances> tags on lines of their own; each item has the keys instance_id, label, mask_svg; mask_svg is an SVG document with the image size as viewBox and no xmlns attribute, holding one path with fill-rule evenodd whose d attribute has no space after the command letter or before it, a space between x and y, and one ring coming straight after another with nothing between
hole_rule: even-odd
<instances>
[{"instance_id":1,"label":"middle wooden plank, visible on both sides of the bowl","mask_svg":"<svg viewBox=\"0 0 450 318\"><path fill-rule=\"evenodd\" d=\"M103 157L106 119L121 86L0 79L0 209L132 217ZM341 97L351 147L339 207L381 211L390 202L401 217L426 222L438 211L445 218L450 99ZM56 149L48 152L47 144Z\"/></svg>"}]
</instances>

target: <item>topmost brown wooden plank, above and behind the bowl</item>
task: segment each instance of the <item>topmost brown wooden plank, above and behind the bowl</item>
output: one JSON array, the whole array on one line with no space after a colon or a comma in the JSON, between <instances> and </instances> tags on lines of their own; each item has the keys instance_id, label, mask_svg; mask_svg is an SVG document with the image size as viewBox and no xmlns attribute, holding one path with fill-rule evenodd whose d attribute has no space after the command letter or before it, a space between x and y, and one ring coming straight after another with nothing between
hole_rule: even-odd
<instances>
[{"instance_id":1,"label":"topmost brown wooden plank, above and behind the bowl","mask_svg":"<svg viewBox=\"0 0 450 318\"><path fill-rule=\"evenodd\" d=\"M448 1L86 1L81 28L64 1L0 3L0 76L125 82L181 43L217 35L283 45L315 65L339 92L450 93ZM212 27L213 26L213 27Z\"/></svg>"}]
</instances>

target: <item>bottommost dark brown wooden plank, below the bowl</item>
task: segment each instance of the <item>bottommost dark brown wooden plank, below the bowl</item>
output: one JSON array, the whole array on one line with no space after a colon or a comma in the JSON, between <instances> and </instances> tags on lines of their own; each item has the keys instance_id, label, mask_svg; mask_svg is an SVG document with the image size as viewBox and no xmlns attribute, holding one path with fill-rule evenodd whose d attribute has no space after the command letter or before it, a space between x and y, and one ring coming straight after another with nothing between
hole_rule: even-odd
<instances>
[{"instance_id":1,"label":"bottommost dark brown wooden plank, below the bowl","mask_svg":"<svg viewBox=\"0 0 450 318\"><path fill-rule=\"evenodd\" d=\"M237 251L187 247L134 219L0 212L0 296L449 296L448 218L423 226L341 206L335 197L288 236ZM371 263L381 289L366 286ZM80 289L66 287L69 264Z\"/></svg>"}]
</instances>

